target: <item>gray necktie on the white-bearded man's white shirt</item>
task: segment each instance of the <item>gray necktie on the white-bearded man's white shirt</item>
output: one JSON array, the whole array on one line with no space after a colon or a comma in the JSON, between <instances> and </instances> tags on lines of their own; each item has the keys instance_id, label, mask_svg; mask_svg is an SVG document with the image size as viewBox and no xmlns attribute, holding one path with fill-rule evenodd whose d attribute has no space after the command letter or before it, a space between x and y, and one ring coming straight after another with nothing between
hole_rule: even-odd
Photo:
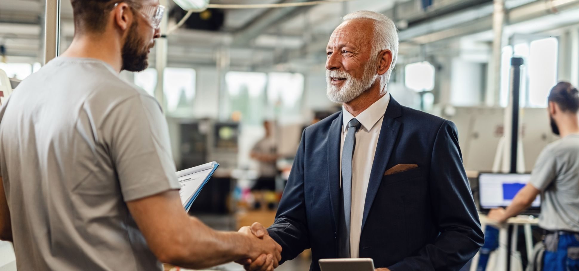
<instances>
[{"instance_id":1,"label":"gray necktie on the white-bearded man's white shirt","mask_svg":"<svg viewBox=\"0 0 579 271\"><path fill-rule=\"evenodd\" d=\"M356 132L362 124L353 118L348 122L348 133L342 150L342 201L338 227L338 257L350 258L350 211L352 202L352 157L356 147Z\"/></svg>"}]
</instances>

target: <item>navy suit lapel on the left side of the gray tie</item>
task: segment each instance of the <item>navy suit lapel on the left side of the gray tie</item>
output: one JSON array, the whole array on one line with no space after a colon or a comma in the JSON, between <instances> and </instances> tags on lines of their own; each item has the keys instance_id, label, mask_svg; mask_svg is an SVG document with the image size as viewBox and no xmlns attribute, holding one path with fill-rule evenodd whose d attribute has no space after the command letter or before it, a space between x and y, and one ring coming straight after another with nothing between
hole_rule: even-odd
<instances>
[{"instance_id":1,"label":"navy suit lapel on the left side of the gray tie","mask_svg":"<svg viewBox=\"0 0 579 271\"><path fill-rule=\"evenodd\" d=\"M342 139L342 113L332 122L328 131L328 188L334 229L338 229L338 211L340 207L340 139Z\"/></svg>"}]
</instances>

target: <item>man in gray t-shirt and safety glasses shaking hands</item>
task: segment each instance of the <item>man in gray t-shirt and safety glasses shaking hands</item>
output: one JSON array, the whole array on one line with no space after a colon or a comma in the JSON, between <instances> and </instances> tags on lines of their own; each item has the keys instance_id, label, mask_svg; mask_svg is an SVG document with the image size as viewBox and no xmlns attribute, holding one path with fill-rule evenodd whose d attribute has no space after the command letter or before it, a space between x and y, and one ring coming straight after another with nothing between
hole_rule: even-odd
<instances>
[{"instance_id":1,"label":"man in gray t-shirt and safety glasses shaking hands","mask_svg":"<svg viewBox=\"0 0 579 271\"><path fill-rule=\"evenodd\" d=\"M159 38L158 0L72 0L67 51L0 110L0 239L19 270L273 270L263 232L218 232L181 205L167 123L152 96L120 79Z\"/></svg>"}]
</instances>

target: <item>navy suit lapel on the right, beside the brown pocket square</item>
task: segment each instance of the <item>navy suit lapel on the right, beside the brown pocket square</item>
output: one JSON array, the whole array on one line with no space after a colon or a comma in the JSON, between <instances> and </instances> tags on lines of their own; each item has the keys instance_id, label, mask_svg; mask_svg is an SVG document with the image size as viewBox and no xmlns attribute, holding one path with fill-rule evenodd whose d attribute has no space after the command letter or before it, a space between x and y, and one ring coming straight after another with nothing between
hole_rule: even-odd
<instances>
[{"instance_id":1,"label":"navy suit lapel on the right, beside the brown pocket square","mask_svg":"<svg viewBox=\"0 0 579 271\"><path fill-rule=\"evenodd\" d=\"M394 150L394 144L398 138L398 131L401 123L395 118L402 115L402 106L390 96L390 103L384 114L382 121L382 129L378 137L378 144L376 145L376 154L374 155L374 162L372 164L372 171L370 173L370 180L368 183L368 192L366 193L366 201L364 203L364 217L362 217L362 231L370 213L372 203L382 183L382 176L386 172L386 166ZM339 145L338 145L339 150Z\"/></svg>"}]
</instances>

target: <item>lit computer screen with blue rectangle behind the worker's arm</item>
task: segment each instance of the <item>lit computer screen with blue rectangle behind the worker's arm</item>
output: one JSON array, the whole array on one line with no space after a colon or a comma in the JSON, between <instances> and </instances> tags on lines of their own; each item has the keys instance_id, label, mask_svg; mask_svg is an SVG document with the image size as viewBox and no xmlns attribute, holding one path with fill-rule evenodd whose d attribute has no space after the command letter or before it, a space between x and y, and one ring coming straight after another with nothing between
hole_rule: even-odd
<instances>
[{"instance_id":1,"label":"lit computer screen with blue rectangle behind the worker's arm","mask_svg":"<svg viewBox=\"0 0 579 271\"><path fill-rule=\"evenodd\" d=\"M481 213L488 214L490 209L509 206L530 179L530 173L480 173L478 196ZM538 216L540 213L541 196L538 195L531 207L522 214Z\"/></svg>"}]
</instances>

